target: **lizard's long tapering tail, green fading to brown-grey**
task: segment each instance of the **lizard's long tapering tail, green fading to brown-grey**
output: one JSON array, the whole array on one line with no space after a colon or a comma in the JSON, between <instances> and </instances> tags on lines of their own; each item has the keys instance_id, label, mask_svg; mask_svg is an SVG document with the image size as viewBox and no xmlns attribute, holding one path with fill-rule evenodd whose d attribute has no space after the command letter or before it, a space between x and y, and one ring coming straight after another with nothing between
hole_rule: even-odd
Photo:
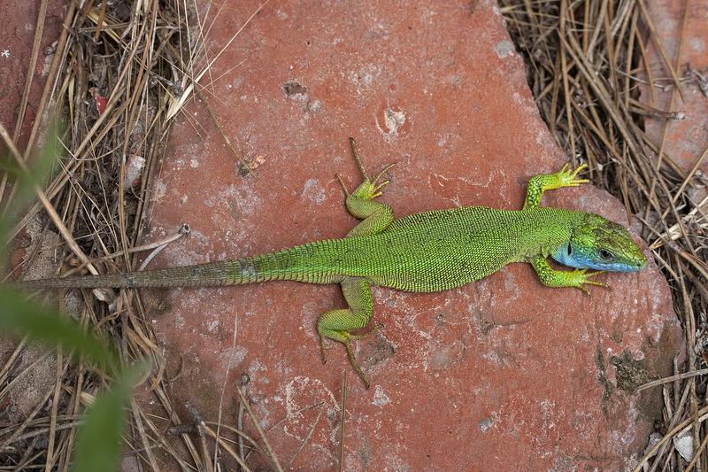
<instances>
[{"instance_id":1,"label":"lizard's long tapering tail, green fading to brown-grey","mask_svg":"<svg viewBox=\"0 0 708 472\"><path fill-rule=\"evenodd\" d=\"M319 242L334 243L332 242ZM170 267L111 275L83 275L13 283L21 290L97 289L134 287L219 287L273 280L329 283L335 274L321 259L312 258L313 246L304 244L252 258L223 260L196 266Z\"/></svg>"}]
</instances>

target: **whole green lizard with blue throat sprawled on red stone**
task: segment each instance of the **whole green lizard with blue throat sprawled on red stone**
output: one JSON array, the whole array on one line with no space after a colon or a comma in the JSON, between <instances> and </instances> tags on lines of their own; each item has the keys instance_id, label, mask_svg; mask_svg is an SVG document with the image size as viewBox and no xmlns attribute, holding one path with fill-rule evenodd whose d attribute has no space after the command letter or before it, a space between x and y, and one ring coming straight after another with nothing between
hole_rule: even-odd
<instances>
[{"instance_id":1,"label":"whole green lizard with blue throat sprawled on red stone","mask_svg":"<svg viewBox=\"0 0 708 472\"><path fill-rule=\"evenodd\" d=\"M251 258L196 266L172 267L114 275L88 275L20 282L24 289L207 287L291 280L339 283L347 308L322 314L317 322L322 360L325 339L346 348L352 368L366 388L369 382L354 357L351 340L366 335L373 315L372 285L397 290L449 290L495 273L512 262L528 262L548 287L586 285L602 271L633 272L647 259L632 237L617 223L594 213L543 207L543 191L589 182L577 175L585 167L564 166L555 174L535 175L528 182L521 210L463 206L416 213L394 220L389 205L376 201L389 184L381 181L389 165L370 179L350 138L351 151L364 182L349 192L342 183L349 212L362 220L342 239L317 241ZM548 258L571 271L550 267ZM594 269L600 272L589 272Z\"/></svg>"}]
</instances>

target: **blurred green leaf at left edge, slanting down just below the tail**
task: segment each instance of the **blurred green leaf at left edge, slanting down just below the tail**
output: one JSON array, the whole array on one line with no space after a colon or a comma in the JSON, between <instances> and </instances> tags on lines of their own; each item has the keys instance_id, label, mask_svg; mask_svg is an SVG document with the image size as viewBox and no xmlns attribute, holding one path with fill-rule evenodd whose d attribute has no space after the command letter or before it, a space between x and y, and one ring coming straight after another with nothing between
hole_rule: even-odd
<instances>
[{"instance_id":1,"label":"blurred green leaf at left edge, slanting down just below the tail","mask_svg":"<svg viewBox=\"0 0 708 472\"><path fill-rule=\"evenodd\" d=\"M97 368L115 372L120 366L117 352L84 332L71 319L38 306L16 290L0 287L0 330L29 337L65 352L84 356Z\"/></svg>"}]
</instances>

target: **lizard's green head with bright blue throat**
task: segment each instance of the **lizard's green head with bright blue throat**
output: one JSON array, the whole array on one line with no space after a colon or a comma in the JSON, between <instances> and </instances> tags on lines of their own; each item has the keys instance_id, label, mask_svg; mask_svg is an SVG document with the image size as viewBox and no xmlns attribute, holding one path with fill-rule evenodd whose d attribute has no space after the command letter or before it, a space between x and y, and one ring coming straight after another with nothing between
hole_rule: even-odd
<instances>
[{"instance_id":1,"label":"lizard's green head with bright blue throat","mask_svg":"<svg viewBox=\"0 0 708 472\"><path fill-rule=\"evenodd\" d=\"M647 258L623 226L594 213L571 231L567 244L551 254L568 267L635 272L647 265Z\"/></svg>"}]
</instances>

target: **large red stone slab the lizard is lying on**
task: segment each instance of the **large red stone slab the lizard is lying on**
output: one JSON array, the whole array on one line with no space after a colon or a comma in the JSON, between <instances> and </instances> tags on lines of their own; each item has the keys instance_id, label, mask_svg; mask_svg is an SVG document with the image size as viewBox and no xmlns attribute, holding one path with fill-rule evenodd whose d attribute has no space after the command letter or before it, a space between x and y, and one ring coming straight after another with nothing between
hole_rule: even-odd
<instances>
[{"instance_id":1,"label":"large red stone slab the lizard is lying on","mask_svg":"<svg viewBox=\"0 0 708 472\"><path fill-rule=\"evenodd\" d=\"M204 103L190 104L173 128L147 239L183 222L193 232L151 267L344 236L356 221L335 173L359 182L350 135L372 171L398 163L382 198L396 215L519 208L527 179L566 157L536 112L496 7L473 4L266 5L213 66L218 80L203 81L224 133L258 168L243 176ZM220 13L211 57L257 7ZM591 187L544 202L627 224L621 205ZM444 293L374 289L381 333L356 345L373 386L349 376L345 469L633 464L660 411L658 391L636 395L634 386L669 373L680 329L653 262L601 280L612 290L586 297L543 288L517 264ZM220 407L233 425L232 385L248 373L251 406L283 464L335 468L350 367L337 345L320 364L314 326L342 306L339 287L145 293L168 373L179 372L178 403L210 420Z\"/></svg>"}]
</instances>

